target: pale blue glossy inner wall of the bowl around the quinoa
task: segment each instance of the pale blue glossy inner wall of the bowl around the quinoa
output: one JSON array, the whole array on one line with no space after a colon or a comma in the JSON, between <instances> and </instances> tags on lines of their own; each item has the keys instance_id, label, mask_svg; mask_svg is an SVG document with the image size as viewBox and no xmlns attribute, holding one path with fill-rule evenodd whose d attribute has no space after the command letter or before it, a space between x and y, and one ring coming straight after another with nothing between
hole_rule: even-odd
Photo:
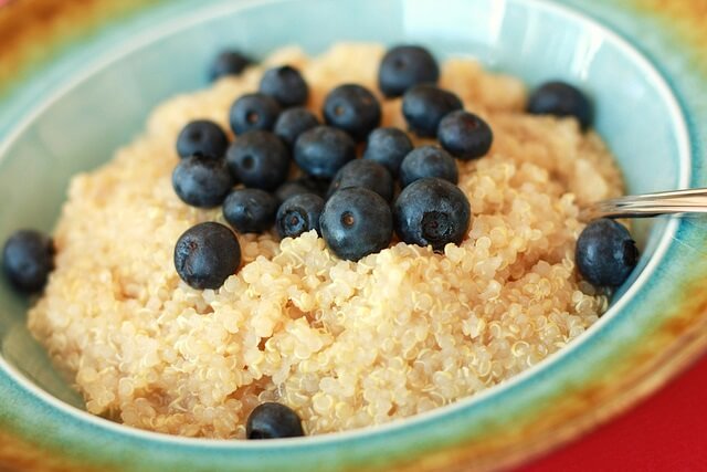
<instances>
[{"instance_id":1,"label":"pale blue glossy inner wall of the bowl around the quinoa","mask_svg":"<svg viewBox=\"0 0 707 472\"><path fill-rule=\"evenodd\" d=\"M83 51L83 60L94 53L91 61L74 57L83 65L63 83L44 83L46 93L35 107L2 136L0 240L24 227L51 230L71 177L107 161L139 133L155 105L205 86L208 65L224 46L257 57L293 43L316 54L336 41L414 42L441 59L475 56L530 87L567 80L593 98L595 127L615 154L630 192L686 183L684 132L672 95L619 38L541 1L451 0L445 10L432 0L194 2L124 42L97 41ZM64 61L71 64L72 59ZM665 229L659 221L637 224L643 255L633 279ZM28 301L4 281L0 300L4 359L49 394L83 408L25 328Z\"/></svg>"}]
</instances>

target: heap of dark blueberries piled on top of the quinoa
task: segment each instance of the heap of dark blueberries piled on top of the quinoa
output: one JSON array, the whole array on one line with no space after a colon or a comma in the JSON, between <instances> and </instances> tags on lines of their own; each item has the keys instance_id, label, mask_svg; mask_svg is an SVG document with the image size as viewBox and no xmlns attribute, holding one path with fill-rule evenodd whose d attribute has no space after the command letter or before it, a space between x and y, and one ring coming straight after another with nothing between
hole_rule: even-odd
<instances>
[{"instance_id":1,"label":"heap of dark blueberries piled on top of the quinoa","mask_svg":"<svg viewBox=\"0 0 707 472\"><path fill-rule=\"evenodd\" d=\"M212 77L238 74L247 64L239 53L222 54ZM368 88L335 87L320 123L304 107L309 90L299 71L270 69L258 92L239 97L230 109L234 143L209 120L181 130L175 191L194 207L222 204L238 232L274 225L282 238L295 238L316 230L337 256L351 261L388 248L393 232L435 251L458 244L471 207L456 187L455 159L486 155L493 133L456 95L435 85L439 76L435 59L415 45L392 48L379 67L379 88L388 98L402 96L410 130L440 144L415 148L405 132L379 127L381 105ZM293 175L298 177L288 180ZM236 183L242 187L234 189ZM192 287L218 289L238 270L236 247L228 228L199 224L177 243L177 271Z\"/></svg>"}]
</instances>

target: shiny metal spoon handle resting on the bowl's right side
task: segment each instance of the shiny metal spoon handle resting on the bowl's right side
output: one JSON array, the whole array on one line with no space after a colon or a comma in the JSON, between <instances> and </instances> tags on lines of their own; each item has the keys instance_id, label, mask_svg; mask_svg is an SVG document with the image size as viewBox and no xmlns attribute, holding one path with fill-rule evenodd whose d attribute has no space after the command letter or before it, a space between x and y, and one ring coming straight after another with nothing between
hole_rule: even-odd
<instances>
[{"instance_id":1,"label":"shiny metal spoon handle resting on the bowl's right side","mask_svg":"<svg viewBox=\"0 0 707 472\"><path fill-rule=\"evenodd\" d=\"M707 213L707 188L671 190L602 200L582 209L580 219L589 221L604 217L647 218L676 213Z\"/></svg>"}]
</instances>

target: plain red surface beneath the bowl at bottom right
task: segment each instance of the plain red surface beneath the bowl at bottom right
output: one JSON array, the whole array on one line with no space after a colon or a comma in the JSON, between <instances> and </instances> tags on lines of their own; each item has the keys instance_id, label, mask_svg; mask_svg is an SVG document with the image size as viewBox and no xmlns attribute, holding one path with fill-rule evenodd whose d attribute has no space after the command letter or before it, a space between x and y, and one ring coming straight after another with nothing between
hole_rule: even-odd
<instances>
[{"instance_id":1,"label":"plain red surface beneath the bowl at bottom right","mask_svg":"<svg viewBox=\"0 0 707 472\"><path fill-rule=\"evenodd\" d=\"M625 413L518 471L707 471L707 356Z\"/></svg>"}]
</instances>

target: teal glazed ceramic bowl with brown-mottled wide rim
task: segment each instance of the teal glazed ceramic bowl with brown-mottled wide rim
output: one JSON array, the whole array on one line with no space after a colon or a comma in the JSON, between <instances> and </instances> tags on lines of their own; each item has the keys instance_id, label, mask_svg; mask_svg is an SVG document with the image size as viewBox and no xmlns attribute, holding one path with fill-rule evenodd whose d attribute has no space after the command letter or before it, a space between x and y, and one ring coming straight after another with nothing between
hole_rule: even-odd
<instances>
[{"instance_id":1,"label":"teal glazed ceramic bowl with brown-mottled wide rim","mask_svg":"<svg viewBox=\"0 0 707 472\"><path fill-rule=\"evenodd\" d=\"M94 3L98 13L117 4ZM60 33L41 38L55 45L52 53L0 83L1 240L23 227L50 231L71 177L107 161L160 102L207 86L204 71L224 46L264 56L287 44L318 53L337 41L414 42L440 57L475 56L530 87L563 78L592 96L595 127L616 156L629 192L707 186L699 42L693 44L689 34L675 40L672 17L640 2L128 3L110 21L96 19L99 14L76 20L83 33L71 41ZM0 14L20 14L13 8L19 9L6 7ZM405 420L302 439L187 439L88 415L29 334L28 301L3 282L0 465L197 472L517 464L625 409L703 350L705 223L697 217L637 222L641 261L608 313L511 380Z\"/></svg>"}]
</instances>

